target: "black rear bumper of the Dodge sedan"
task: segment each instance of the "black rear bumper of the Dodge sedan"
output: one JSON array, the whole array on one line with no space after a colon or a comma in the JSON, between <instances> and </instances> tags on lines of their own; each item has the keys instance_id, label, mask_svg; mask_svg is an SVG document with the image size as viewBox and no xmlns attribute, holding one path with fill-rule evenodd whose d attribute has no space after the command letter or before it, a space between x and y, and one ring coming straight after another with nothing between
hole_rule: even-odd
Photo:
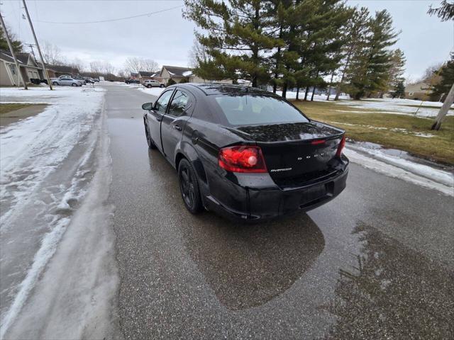
<instances>
[{"instance_id":1,"label":"black rear bumper of the Dodge sedan","mask_svg":"<svg viewBox=\"0 0 454 340\"><path fill-rule=\"evenodd\" d=\"M298 211L308 211L336 198L346 186L348 166L335 176L307 186L282 190L280 188L248 188L236 185L234 198L229 205L215 195L204 197L207 209L231 220L259 222ZM225 198L225 196L221 196Z\"/></svg>"}]
</instances>

